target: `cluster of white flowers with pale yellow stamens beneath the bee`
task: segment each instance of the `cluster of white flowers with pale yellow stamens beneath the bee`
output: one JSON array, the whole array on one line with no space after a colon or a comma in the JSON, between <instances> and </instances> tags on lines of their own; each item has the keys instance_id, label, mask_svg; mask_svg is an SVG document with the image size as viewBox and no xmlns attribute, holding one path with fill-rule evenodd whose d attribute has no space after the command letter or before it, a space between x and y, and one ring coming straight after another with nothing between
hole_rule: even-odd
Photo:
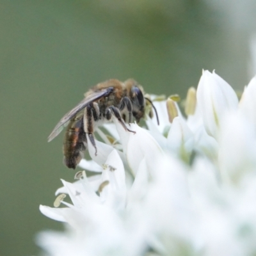
<instances>
[{"instance_id":1,"label":"cluster of white flowers with pale yellow stamens beneath the bee","mask_svg":"<svg viewBox=\"0 0 256 256\"><path fill-rule=\"evenodd\" d=\"M217 74L190 88L186 118L175 97L157 100L147 128L104 125L92 160L62 180L55 206L65 232L41 232L46 255L255 255L256 77L240 100ZM152 97L154 100L154 96ZM109 139L111 137L111 140ZM72 204L64 201L69 195Z\"/></svg>"}]
</instances>

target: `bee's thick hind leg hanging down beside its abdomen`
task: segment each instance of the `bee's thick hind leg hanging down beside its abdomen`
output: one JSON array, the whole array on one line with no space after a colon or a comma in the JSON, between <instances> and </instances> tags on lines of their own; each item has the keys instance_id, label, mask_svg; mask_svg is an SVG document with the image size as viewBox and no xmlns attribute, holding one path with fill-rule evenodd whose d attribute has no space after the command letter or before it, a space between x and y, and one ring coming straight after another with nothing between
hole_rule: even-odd
<instances>
[{"instance_id":1,"label":"bee's thick hind leg hanging down beside its abdomen","mask_svg":"<svg viewBox=\"0 0 256 256\"><path fill-rule=\"evenodd\" d=\"M93 147L95 148L95 156L97 156L97 147L96 143L93 137L93 132L94 132L94 113L93 111L97 113L97 111L93 108L92 104L89 104L86 108L84 108L84 132L88 134L89 140L91 141Z\"/></svg>"}]
</instances>

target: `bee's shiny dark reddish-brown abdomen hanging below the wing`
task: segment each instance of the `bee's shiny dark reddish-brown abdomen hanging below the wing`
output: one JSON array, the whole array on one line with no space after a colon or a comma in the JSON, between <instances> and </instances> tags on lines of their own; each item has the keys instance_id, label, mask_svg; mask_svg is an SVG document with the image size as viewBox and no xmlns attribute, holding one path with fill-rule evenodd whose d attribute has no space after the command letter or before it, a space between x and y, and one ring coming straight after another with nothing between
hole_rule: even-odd
<instances>
[{"instance_id":1,"label":"bee's shiny dark reddish-brown abdomen hanging below the wing","mask_svg":"<svg viewBox=\"0 0 256 256\"><path fill-rule=\"evenodd\" d=\"M83 128L83 116L70 120L63 142L64 163L75 169L86 150L86 134Z\"/></svg>"}]
</instances>

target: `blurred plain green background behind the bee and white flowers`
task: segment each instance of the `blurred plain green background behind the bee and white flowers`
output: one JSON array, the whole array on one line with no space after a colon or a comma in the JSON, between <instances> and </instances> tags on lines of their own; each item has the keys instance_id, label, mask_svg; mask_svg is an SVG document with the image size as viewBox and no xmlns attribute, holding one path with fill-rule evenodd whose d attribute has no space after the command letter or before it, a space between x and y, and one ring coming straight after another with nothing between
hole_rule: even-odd
<instances>
[{"instance_id":1,"label":"blurred plain green background behind the bee and white flowers","mask_svg":"<svg viewBox=\"0 0 256 256\"><path fill-rule=\"evenodd\" d=\"M0 255L38 254L35 234L61 228L38 207L75 172L63 135L47 136L90 86L133 77L185 97L205 68L242 90L255 13L247 0L1 0Z\"/></svg>"}]
</instances>

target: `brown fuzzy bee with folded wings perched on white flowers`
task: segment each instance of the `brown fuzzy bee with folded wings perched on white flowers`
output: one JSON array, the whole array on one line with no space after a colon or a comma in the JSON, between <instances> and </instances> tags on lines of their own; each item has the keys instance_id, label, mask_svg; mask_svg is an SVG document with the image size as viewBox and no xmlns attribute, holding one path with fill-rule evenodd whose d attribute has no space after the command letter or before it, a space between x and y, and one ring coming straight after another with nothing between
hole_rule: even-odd
<instances>
[{"instance_id":1,"label":"brown fuzzy bee with folded wings perched on white flowers","mask_svg":"<svg viewBox=\"0 0 256 256\"><path fill-rule=\"evenodd\" d=\"M154 109L157 124L159 124L154 104L145 97L142 86L133 79L128 79L124 83L117 79L109 79L96 84L84 94L84 99L75 108L61 118L49 135L48 142L58 136L70 121L64 136L63 154L67 167L75 169L86 150L87 140L90 140L97 155L93 132L97 126L110 122L113 116L125 131L135 133L127 127L125 122L130 124L132 116L136 122L140 122L140 119L145 117L146 100ZM152 108L149 111L151 118Z\"/></svg>"}]
</instances>

